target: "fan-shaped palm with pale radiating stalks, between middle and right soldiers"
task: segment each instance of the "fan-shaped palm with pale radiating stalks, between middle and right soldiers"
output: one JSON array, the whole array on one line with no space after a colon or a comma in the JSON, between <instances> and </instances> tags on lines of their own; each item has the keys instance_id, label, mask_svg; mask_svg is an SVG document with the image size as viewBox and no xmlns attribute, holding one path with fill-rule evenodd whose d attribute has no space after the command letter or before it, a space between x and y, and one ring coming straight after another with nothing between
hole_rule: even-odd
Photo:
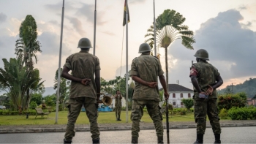
<instances>
[{"instance_id":1,"label":"fan-shaped palm with pale radiating stalks, between middle and right soldiers","mask_svg":"<svg viewBox=\"0 0 256 144\"><path fill-rule=\"evenodd\" d=\"M165 10L156 20L156 42L157 48L165 48L165 71L166 71L166 84L168 90L168 62L167 62L167 48L176 39L182 39L181 44L188 49L193 49L192 44L195 43L193 31L189 27L182 25L186 18L175 10ZM148 29L149 37L145 42L153 48L154 45L154 26ZM158 53L159 56L159 53Z\"/></svg>"}]
</instances>

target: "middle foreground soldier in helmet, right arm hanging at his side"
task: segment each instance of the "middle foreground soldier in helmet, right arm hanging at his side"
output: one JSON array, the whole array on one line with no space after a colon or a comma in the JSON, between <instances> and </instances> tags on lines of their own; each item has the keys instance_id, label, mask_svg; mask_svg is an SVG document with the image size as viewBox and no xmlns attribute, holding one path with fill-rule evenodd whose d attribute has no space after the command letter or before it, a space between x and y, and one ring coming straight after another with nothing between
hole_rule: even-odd
<instances>
[{"instance_id":1,"label":"middle foreground soldier in helmet, right arm hanging at his side","mask_svg":"<svg viewBox=\"0 0 256 144\"><path fill-rule=\"evenodd\" d=\"M138 58L132 60L130 76L135 80L135 89L132 96L132 143L138 143L140 132L140 119L143 116L143 108L146 106L148 114L154 122L158 143L163 143L162 113L159 107L159 89L157 77L165 91L165 99L168 99L165 76L160 61L157 57L150 56L151 48L147 43L140 45Z\"/></svg>"}]
</instances>

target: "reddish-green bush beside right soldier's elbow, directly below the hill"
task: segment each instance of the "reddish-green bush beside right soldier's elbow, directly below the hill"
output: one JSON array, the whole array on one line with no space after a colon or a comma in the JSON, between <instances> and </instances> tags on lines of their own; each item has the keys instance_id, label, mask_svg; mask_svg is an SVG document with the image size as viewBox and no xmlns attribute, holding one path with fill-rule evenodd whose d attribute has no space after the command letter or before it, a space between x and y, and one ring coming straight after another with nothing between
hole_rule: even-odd
<instances>
[{"instance_id":1,"label":"reddish-green bush beside right soldier's elbow, directly below the hill","mask_svg":"<svg viewBox=\"0 0 256 144\"><path fill-rule=\"evenodd\" d=\"M245 107L246 100L243 96L243 93L219 95L217 101L218 109L222 110L225 108L230 110L231 107Z\"/></svg>"}]
</instances>

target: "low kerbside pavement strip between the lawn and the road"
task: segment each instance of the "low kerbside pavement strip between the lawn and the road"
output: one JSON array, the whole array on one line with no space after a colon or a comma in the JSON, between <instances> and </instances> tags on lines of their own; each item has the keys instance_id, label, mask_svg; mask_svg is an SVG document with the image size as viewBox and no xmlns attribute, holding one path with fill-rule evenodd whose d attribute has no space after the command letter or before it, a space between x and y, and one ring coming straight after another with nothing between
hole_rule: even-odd
<instances>
[{"instance_id":1,"label":"low kerbside pavement strip between the lawn and the road","mask_svg":"<svg viewBox=\"0 0 256 144\"><path fill-rule=\"evenodd\" d=\"M209 121L206 122L207 127L211 128ZM256 120L245 121L232 121L221 120L222 127L236 127L236 126L256 126ZM163 123L165 129L165 123ZM100 131L113 131L113 130L130 130L131 122L125 123L125 121L117 121L115 124L99 124ZM176 121L170 122L170 129L189 129L196 128L194 121ZM64 124L49 124L49 125L0 125L0 134L5 133L31 133L31 132L65 132L66 125ZM140 122L140 129L154 129L153 123ZM75 124L76 132L89 132L89 124Z\"/></svg>"}]
</instances>

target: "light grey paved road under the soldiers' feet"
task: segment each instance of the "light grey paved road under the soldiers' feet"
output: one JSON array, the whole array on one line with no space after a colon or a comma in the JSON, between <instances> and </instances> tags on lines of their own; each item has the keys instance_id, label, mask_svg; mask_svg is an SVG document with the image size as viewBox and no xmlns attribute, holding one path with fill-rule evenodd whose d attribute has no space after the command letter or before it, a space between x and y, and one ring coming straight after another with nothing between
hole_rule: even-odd
<instances>
[{"instance_id":1,"label":"light grey paved road under the soldiers' feet","mask_svg":"<svg viewBox=\"0 0 256 144\"><path fill-rule=\"evenodd\" d=\"M170 143L194 143L195 129L170 129ZM0 143L63 143L64 132L0 134ZM103 131L101 143L130 143L131 132ZM166 132L164 136L165 143ZM205 143L214 142L214 134L206 129ZM77 132L73 143L91 143L90 132ZM157 143L154 130L141 130L139 143ZM222 143L256 143L256 126L222 128Z\"/></svg>"}]
</instances>

